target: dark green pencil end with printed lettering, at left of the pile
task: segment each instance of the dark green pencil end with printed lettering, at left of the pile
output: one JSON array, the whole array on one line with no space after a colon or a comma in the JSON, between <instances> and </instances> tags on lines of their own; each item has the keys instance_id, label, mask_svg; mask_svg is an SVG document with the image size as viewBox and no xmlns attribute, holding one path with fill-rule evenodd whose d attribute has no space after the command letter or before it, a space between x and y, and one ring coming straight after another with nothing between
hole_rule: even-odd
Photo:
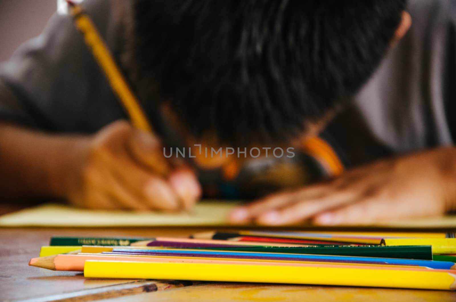
<instances>
[{"instance_id":1,"label":"dark green pencil end with printed lettering, at left of the pile","mask_svg":"<svg viewBox=\"0 0 456 302\"><path fill-rule=\"evenodd\" d=\"M130 245L133 242L152 240L153 238L103 238L103 237L51 237L49 245L109 245L123 246Z\"/></svg>"}]
</instances>

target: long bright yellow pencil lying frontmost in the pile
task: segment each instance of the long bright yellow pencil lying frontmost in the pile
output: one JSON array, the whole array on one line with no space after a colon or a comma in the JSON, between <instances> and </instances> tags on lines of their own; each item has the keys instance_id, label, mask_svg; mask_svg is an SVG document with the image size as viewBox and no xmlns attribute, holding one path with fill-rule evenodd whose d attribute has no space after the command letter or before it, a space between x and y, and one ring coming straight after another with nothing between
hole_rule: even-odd
<instances>
[{"instance_id":1,"label":"long bright yellow pencil lying frontmost in the pile","mask_svg":"<svg viewBox=\"0 0 456 302\"><path fill-rule=\"evenodd\" d=\"M454 290L456 275L447 270L365 268L347 265L272 266L258 264L155 263L88 260L90 278L292 283Z\"/></svg>"}]
</instances>

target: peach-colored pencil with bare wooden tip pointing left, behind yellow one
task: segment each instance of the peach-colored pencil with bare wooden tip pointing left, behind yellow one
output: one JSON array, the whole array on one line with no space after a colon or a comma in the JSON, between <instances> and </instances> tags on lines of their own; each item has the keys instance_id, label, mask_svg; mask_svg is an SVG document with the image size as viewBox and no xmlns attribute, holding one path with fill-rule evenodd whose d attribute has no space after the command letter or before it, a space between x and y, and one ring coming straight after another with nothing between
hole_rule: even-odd
<instances>
[{"instance_id":1,"label":"peach-colored pencil with bare wooden tip pointing left, behind yellow one","mask_svg":"<svg viewBox=\"0 0 456 302\"><path fill-rule=\"evenodd\" d=\"M245 264L247 261L253 264L261 265L283 265L283 266L302 266L305 264L339 264L350 266L378 266L378 267L400 267L400 268L421 268L428 269L423 266L410 265L390 265L388 263L348 263L348 262L317 262L317 261L278 261L278 260L246 260L246 259L230 259L230 258L185 258L185 257L138 257L138 256L122 256L122 255L52 255L48 257L32 258L29 261L29 266L36 266L53 271L84 271L84 263L87 260L103 260L103 261L136 261L136 262L185 262L185 263L223 263L223 264Z\"/></svg>"}]
</instances>

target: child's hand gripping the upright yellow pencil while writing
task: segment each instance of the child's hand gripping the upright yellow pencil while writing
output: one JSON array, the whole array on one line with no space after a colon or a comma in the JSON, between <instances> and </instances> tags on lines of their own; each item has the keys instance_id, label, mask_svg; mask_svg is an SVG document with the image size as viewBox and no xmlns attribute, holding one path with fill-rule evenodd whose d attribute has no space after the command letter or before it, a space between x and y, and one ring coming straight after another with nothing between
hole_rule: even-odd
<instances>
[{"instance_id":1,"label":"child's hand gripping the upright yellow pencil while writing","mask_svg":"<svg viewBox=\"0 0 456 302\"><path fill-rule=\"evenodd\" d=\"M125 121L106 126L76 149L64 192L78 206L177 210L200 197L193 172L169 171L160 141Z\"/></svg>"}]
</instances>

